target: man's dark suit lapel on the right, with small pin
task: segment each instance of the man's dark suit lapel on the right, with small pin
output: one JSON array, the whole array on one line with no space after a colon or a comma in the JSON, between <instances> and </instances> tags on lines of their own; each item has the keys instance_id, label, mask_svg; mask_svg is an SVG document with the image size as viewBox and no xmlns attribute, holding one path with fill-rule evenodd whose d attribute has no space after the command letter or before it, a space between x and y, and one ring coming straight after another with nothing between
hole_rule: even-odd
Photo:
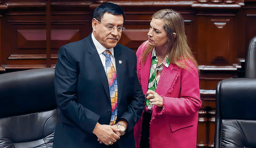
<instances>
[{"instance_id":1,"label":"man's dark suit lapel on the right, with small pin","mask_svg":"<svg viewBox=\"0 0 256 148\"><path fill-rule=\"evenodd\" d=\"M123 90L123 82L124 82L124 63L119 63L119 61L124 61L124 58L121 55L122 51L119 46L114 47L114 56L116 61L116 77L117 77L117 85L118 85L118 105L120 103L120 98Z\"/></svg>"}]
</instances>

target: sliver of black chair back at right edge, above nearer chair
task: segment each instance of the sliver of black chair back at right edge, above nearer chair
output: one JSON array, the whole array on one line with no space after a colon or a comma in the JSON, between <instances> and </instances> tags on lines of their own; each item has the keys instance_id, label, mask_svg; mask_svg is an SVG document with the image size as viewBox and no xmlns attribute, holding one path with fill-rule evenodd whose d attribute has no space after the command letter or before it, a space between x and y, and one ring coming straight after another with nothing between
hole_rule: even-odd
<instances>
[{"instance_id":1,"label":"sliver of black chair back at right edge, above nearer chair","mask_svg":"<svg viewBox=\"0 0 256 148\"><path fill-rule=\"evenodd\" d=\"M245 77L256 78L256 36L251 39L245 58Z\"/></svg>"}]
</instances>

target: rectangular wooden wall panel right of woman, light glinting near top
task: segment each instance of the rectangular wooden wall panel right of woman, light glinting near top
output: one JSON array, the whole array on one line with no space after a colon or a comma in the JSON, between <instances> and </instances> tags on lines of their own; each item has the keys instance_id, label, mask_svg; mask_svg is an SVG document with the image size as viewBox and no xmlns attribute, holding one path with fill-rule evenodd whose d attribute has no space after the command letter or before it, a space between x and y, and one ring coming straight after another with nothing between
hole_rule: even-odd
<instances>
[{"instance_id":1,"label":"rectangular wooden wall panel right of woman, light glinting near top","mask_svg":"<svg viewBox=\"0 0 256 148\"><path fill-rule=\"evenodd\" d=\"M233 16L198 16L198 63L232 65L234 58Z\"/></svg>"}]
</instances>

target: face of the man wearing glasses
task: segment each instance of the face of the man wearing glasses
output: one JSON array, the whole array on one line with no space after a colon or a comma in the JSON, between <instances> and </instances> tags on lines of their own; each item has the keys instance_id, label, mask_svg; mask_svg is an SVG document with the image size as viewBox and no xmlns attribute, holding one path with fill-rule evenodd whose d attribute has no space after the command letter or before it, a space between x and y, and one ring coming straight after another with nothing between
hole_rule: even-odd
<instances>
[{"instance_id":1,"label":"face of the man wearing glasses","mask_svg":"<svg viewBox=\"0 0 256 148\"><path fill-rule=\"evenodd\" d=\"M121 38L122 30L118 31L117 28L108 30L106 26L122 27L124 22L122 14L112 15L105 13L100 22L95 18L92 20L92 29L95 38L107 49L115 47Z\"/></svg>"}]
</instances>

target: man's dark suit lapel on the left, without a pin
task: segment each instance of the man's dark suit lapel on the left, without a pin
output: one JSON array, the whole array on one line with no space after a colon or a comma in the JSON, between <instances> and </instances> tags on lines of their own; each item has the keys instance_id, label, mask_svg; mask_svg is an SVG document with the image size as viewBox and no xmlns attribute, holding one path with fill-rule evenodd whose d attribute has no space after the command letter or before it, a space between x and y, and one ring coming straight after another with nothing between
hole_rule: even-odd
<instances>
[{"instance_id":1,"label":"man's dark suit lapel on the left, without a pin","mask_svg":"<svg viewBox=\"0 0 256 148\"><path fill-rule=\"evenodd\" d=\"M100 80L102 81L102 85L104 86L104 89L106 91L106 94L108 95L108 99L110 101L110 91L109 91L109 86L108 86L108 79L107 79L104 67L102 65L102 62L100 60L100 56L99 56L99 54L96 50L96 47L92 41L92 34L90 34L87 37L86 43L87 43L87 51L88 51L88 53L91 54L89 56L89 59L92 62L92 65L94 66L94 68L96 69L96 71L100 77Z\"/></svg>"}]
</instances>

